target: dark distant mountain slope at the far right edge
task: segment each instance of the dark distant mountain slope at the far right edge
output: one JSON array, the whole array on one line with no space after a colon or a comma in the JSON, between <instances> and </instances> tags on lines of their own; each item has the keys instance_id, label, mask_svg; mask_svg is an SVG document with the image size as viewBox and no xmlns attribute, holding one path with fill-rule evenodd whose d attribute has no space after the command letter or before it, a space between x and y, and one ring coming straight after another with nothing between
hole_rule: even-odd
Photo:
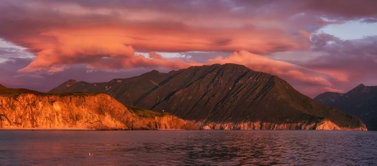
<instances>
[{"instance_id":1,"label":"dark distant mountain slope at the far right edge","mask_svg":"<svg viewBox=\"0 0 377 166\"><path fill-rule=\"evenodd\" d=\"M315 100L361 118L368 130L377 130L377 86L358 85L345 94L326 92Z\"/></svg>"}]
</instances>

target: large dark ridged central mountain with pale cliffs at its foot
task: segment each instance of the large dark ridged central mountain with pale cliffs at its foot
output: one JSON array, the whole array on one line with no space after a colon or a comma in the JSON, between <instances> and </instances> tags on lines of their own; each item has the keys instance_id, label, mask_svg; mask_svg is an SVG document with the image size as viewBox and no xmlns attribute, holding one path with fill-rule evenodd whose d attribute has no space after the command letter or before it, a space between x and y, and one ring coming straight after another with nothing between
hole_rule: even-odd
<instances>
[{"instance_id":1,"label":"large dark ridged central mountain with pale cliffs at its foot","mask_svg":"<svg viewBox=\"0 0 377 166\"><path fill-rule=\"evenodd\" d=\"M107 83L70 80L50 92L105 92L125 105L168 111L204 129L365 129L358 118L320 105L279 77L236 64L153 70Z\"/></svg>"}]
</instances>

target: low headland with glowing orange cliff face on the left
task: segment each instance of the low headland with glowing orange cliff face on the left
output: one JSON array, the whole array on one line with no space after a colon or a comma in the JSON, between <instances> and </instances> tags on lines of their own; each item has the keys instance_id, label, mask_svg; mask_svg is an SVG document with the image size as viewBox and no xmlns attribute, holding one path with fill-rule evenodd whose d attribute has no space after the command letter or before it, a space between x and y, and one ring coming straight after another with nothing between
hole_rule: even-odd
<instances>
[{"instance_id":1,"label":"low headland with glowing orange cliff face on the left","mask_svg":"<svg viewBox=\"0 0 377 166\"><path fill-rule=\"evenodd\" d=\"M191 122L127 108L108 94L44 94L0 86L0 129L197 129Z\"/></svg>"}]
</instances>

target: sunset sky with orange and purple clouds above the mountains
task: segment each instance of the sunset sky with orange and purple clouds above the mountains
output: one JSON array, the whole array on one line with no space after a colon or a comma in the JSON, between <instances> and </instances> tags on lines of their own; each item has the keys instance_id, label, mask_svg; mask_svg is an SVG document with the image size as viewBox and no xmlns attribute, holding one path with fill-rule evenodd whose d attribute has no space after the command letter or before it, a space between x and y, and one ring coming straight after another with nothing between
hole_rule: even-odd
<instances>
[{"instance_id":1,"label":"sunset sky with orange and purple clouds above the mountains","mask_svg":"<svg viewBox=\"0 0 377 166\"><path fill-rule=\"evenodd\" d=\"M310 97L377 85L377 1L0 1L0 83L47 92L241 64Z\"/></svg>"}]
</instances>

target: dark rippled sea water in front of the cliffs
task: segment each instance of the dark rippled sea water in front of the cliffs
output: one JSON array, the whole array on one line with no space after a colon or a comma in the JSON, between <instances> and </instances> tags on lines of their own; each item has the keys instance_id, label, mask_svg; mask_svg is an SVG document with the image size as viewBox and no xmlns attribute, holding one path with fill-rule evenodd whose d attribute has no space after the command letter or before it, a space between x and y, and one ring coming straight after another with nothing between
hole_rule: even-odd
<instances>
[{"instance_id":1,"label":"dark rippled sea water in front of the cliffs","mask_svg":"<svg viewBox=\"0 0 377 166\"><path fill-rule=\"evenodd\" d=\"M377 132L0 131L0 165L281 164L377 165Z\"/></svg>"}]
</instances>

